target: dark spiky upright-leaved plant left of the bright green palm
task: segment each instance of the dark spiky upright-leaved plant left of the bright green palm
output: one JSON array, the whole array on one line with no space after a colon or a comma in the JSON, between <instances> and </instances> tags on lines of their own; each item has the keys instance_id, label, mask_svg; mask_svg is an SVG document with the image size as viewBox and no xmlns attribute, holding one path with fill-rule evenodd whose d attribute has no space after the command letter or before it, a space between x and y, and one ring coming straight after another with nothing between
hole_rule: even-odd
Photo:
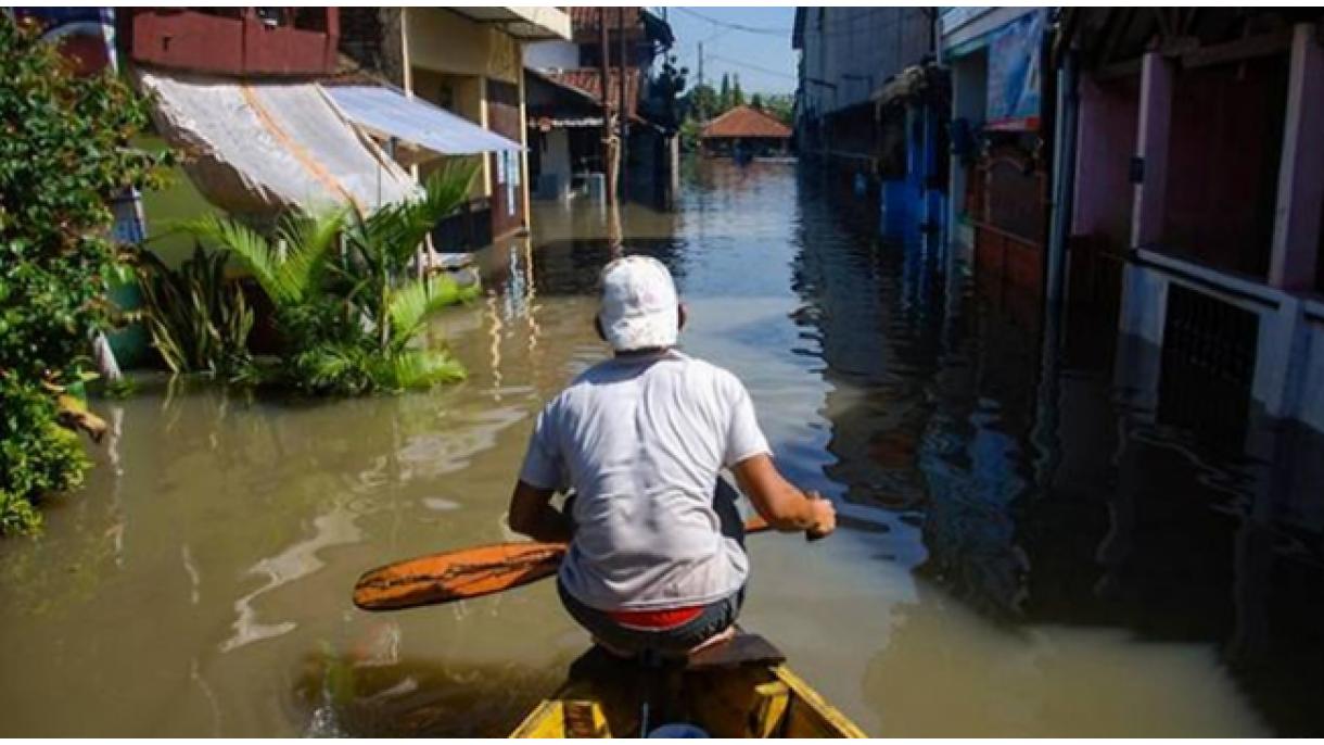
<instances>
[{"instance_id":1,"label":"dark spiky upright-leaved plant left of the bright green palm","mask_svg":"<svg viewBox=\"0 0 1324 745\"><path fill-rule=\"evenodd\" d=\"M193 257L171 269L150 251L139 257L143 321L152 346L172 372L244 376L253 310L237 284L225 281L229 252L193 248Z\"/></svg>"}]
</instances>

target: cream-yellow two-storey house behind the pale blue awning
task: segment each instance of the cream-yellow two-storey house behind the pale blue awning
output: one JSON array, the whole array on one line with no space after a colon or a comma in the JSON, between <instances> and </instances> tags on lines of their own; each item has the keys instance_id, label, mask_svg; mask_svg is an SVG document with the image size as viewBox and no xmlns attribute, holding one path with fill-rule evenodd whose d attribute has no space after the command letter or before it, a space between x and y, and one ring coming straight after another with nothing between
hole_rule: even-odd
<instances>
[{"instance_id":1,"label":"cream-yellow two-storey house behind the pale blue awning","mask_svg":"<svg viewBox=\"0 0 1324 745\"><path fill-rule=\"evenodd\" d=\"M340 50L417 98L518 148L438 154L413 163L420 178L450 158L481 162L461 213L434 232L444 249L471 249L527 231L528 156L523 57L527 44L568 40L559 8L344 8Z\"/></svg>"}]
</instances>

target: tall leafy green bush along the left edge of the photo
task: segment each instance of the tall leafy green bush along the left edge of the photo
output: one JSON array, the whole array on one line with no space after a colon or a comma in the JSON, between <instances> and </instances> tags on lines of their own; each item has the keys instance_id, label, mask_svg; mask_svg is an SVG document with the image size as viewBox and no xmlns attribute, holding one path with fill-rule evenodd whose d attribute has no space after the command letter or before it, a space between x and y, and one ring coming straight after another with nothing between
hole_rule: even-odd
<instances>
[{"instance_id":1,"label":"tall leafy green bush along the left edge of the photo","mask_svg":"<svg viewBox=\"0 0 1324 745\"><path fill-rule=\"evenodd\" d=\"M38 29L0 12L0 532L36 528L32 502L71 488L86 457L52 399L79 380L89 339L117 321L123 264L109 201L160 184L166 154L130 139L148 103L110 74L75 77Z\"/></svg>"}]
</instances>

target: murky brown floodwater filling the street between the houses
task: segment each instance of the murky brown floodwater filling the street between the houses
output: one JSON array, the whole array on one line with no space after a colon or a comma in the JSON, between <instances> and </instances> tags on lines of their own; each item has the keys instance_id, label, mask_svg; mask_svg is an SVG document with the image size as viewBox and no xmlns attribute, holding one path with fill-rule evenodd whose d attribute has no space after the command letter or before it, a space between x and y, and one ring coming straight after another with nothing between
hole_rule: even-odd
<instances>
[{"instance_id":1,"label":"murky brown floodwater filling the street between the houses","mask_svg":"<svg viewBox=\"0 0 1324 745\"><path fill-rule=\"evenodd\" d=\"M980 288L794 164L629 208L842 529L749 541L745 627L875 736L1324 734L1321 439L1210 428L1157 353ZM534 415L605 355L592 208L542 208L436 322L426 394L289 402L148 380L37 540L0 544L0 734L504 734L587 636L551 583L365 614L357 574L511 538ZM1049 337L1053 337L1050 333Z\"/></svg>"}]
</instances>

